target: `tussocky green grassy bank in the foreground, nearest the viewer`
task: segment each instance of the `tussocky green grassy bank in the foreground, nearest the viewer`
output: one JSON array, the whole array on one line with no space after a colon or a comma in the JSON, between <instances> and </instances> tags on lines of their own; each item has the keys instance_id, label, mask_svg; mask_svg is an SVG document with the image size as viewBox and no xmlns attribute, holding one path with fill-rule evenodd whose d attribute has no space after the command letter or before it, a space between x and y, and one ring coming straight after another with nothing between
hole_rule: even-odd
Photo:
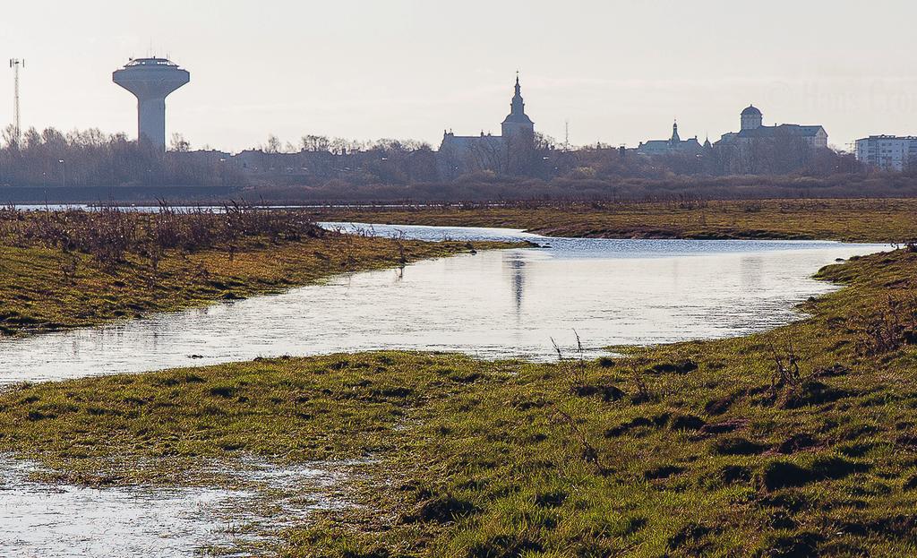
<instances>
[{"instance_id":1,"label":"tussocky green grassy bank in the foreground, nearest the viewer","mask_svg":"<svg viewBox=\"0 0 917 558\"><path fill-rule=\"evenodd\" d=\"M371 457L364 506L285 530L291 556L913 555L915 272L909 251L833 265L847 286L805 321L596 362L385 352L23 386L0 452L85 482L172 482L140 458Z\"/></svg>"}]
</instances>

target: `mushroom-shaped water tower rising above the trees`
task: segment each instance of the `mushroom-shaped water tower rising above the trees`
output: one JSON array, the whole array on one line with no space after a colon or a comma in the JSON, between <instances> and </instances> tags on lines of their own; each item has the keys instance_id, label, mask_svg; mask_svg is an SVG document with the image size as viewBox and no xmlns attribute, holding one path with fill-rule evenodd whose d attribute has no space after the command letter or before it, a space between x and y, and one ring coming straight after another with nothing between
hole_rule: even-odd
<instances>
[{"instance_id":1,"label":"mushroom-shaped water tower rising above the trees","mask_svg":"<svg viewBox=\"0 0 917 558\"><path fill-rule=\"evenodd\" d=\"M112 74L137 97L137 138L166 149L166 97L191 81L191 74L164 58L138 58Z\"/></svg>"}]
</instances>

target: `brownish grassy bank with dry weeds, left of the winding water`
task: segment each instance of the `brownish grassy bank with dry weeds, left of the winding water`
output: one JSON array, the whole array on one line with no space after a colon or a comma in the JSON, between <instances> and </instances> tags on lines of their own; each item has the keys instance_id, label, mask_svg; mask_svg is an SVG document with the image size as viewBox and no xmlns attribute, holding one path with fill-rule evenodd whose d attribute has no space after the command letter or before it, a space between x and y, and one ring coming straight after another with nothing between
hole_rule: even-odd
<instances>
[{"instance_id":1,"label":"brownish grassy bank with dry weeds, left of the winding water","mask_svg":"<svg viewBox=\"0 0 917 558\"><path fill-rule=\"evenodd\" d=\"M342 235L297 212L0 211L0 335L274 293L506 244Z\"/></svg>"}]
</instances>

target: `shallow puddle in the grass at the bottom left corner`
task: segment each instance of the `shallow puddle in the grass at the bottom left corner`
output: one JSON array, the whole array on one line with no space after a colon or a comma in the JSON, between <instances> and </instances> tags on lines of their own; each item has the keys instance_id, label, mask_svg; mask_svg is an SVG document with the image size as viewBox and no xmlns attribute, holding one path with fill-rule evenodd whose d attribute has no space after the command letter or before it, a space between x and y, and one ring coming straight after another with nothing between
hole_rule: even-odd
<instances>
[{"instance_id":1,"label":"shallow puddle in the grass at the bottom left corner","mask_svg":"<svg viewBox=\"0 0 917 558\"><path fill-rule=\"evenodd\" d=\"M276 530L318 509L348 506L342 486L355 463L280 467L213 465L241 488L110 486L30 480L36 463L0 457L0 555L111 557L252 555Z\"/></svg>"}]
</instances>

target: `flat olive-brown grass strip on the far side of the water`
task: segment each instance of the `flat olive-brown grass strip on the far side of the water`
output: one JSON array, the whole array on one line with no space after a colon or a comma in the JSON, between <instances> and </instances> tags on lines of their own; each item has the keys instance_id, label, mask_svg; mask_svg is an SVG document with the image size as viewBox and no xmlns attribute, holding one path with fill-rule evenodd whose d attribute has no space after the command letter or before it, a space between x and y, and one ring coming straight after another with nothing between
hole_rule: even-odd
<instances>
[{"instance_id":1,"label":"flat olive-brown grass strip on the far side of the water","mask_svg":"<svg viewBox=\"0 0 917 558\"><path fill-rule=\"evenodd\" d=\"M547 236L659 239L914 240L917 200L685 200L506 206L336 207L319 220L506 227Z\"/></svg>"}]
</instances>

